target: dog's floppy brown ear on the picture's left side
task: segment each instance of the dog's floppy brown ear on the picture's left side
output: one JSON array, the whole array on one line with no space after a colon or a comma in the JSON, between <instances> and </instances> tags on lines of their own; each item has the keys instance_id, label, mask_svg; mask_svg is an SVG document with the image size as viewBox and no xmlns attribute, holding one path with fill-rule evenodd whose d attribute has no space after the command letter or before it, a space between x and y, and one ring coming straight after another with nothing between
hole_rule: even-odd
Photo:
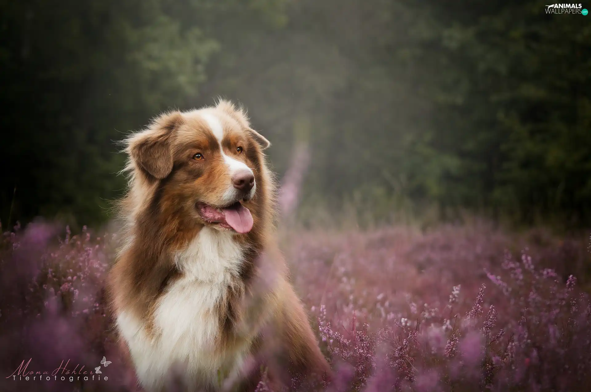
<instances>
[{"instance_id":1,"label":"dog's floppy brown ear on the picture's left side","mask_svg":"<svg viewBox=\"0 0 591 392\"><path fill-rule=\"evenodd\" d=\"M127 152L139 168L155 178L166 178L173 170L170 139L174 130L183 123L180 112L160 115L144 132L132 136Z\"/></svg>"}]
</instances>

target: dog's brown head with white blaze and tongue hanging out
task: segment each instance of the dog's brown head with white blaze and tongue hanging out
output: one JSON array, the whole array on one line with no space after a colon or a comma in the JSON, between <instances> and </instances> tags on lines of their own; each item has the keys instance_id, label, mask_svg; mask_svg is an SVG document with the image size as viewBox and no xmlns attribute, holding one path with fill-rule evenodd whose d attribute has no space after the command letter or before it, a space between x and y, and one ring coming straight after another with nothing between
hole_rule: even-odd
<instances>
[{"instance_id":1,"label":"dog's brown head with white blaze and tongue hanging out","mask_svg":"<svg viewBox=\"0 0 591 392\"><path fill-rule=\"evenodd\" d=\"M262 150L269 145L242 109L220 101L161 115L128 139L127 152L134 175L154 185L152 205L161 213L248 233L264 191Z\"/></svg>"}]
</instances>

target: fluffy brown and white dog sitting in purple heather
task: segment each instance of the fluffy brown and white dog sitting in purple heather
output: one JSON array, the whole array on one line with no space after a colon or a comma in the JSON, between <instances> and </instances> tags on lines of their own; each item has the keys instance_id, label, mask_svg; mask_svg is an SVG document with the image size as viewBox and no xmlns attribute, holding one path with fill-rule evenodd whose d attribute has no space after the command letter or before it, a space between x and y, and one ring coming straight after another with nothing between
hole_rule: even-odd
<instances>
[{"instance_id":1,"label":"fluffy brown and white dog sitting in purple heather","mask_svg":"<svg viewBox=\"0 0 591 392\"><path fill-rule=\"evenodd\" d=\"M174 376L182 390L217 391L228 380L244 390L248 363L261 360L275 380L328 375L272 240L269 142L245 112L222 100L166 113L127 143L123 244L109 289L141 386L166 390Z\"/></svg>"}]
</instances>

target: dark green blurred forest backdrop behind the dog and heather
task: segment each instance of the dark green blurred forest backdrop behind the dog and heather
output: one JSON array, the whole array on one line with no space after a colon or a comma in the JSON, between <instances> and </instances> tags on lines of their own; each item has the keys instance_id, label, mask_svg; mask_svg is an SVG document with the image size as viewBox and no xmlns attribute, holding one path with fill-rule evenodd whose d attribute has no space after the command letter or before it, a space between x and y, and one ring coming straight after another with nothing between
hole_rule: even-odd
<instances>
[{"instance_id":1,"label":"dark green blurred forest backdrop behind the dog and heather","mask_svg":"<svg viewBox=\"0 0 591 392\"><path fill-rule=\"evenodd\" d=\"M217 96L248 108L280 178L308 149L303 224L591 223L591 16L494 0L0 7L4 227L105 223L125 187L116 141Z\"/></svg>"}]
</instances>

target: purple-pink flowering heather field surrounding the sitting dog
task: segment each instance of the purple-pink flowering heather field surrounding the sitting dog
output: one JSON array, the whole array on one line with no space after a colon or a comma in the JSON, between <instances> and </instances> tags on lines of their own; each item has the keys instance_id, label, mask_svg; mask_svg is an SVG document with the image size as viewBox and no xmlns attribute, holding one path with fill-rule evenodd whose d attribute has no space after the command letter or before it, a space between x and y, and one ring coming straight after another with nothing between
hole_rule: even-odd
<instances>
[{"instance_id":1,"label":"purple-pink flowering heather field surrounding the sitting dog","mask_svg":"<svg viewBox=\"0 0 591 392\"><path fill-rule=\"evenodd\" d=\"M590 381L585 238L504 233L485 222L282 228L280 238L336 374L310 389L580 391ZM105 298L115 247L115 234L86 227L4 231L2 390L138 390ZM80 377L103 357L111 364L94 380ZM9 376L30 358L29 381ZM257 390L272 390L260 372Z\"/></svg>"}]
</instances>

